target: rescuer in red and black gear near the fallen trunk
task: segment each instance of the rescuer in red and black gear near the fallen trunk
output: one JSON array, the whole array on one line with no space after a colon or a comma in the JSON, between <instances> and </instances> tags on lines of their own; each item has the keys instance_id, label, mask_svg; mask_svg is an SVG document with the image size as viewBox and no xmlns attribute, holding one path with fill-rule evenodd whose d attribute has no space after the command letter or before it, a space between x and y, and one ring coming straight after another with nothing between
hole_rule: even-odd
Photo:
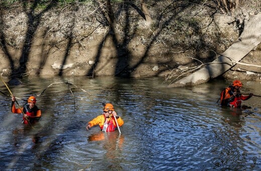
<instances>
[{"instance_id":1,"label":"rescuer in red and black gear near the fallen trunk","mask_svg":"<svg viewBox=\"0 0 261 171\"><path fill-rule=\"evenodd\" d=\"M250 99L253 94L242 95L240 89L242 82L240 80L234 80L228 88L225 88L220 94L221 106L229 106L231 108L240 108L241 101Z\"/></svg>"}]
</instances>

